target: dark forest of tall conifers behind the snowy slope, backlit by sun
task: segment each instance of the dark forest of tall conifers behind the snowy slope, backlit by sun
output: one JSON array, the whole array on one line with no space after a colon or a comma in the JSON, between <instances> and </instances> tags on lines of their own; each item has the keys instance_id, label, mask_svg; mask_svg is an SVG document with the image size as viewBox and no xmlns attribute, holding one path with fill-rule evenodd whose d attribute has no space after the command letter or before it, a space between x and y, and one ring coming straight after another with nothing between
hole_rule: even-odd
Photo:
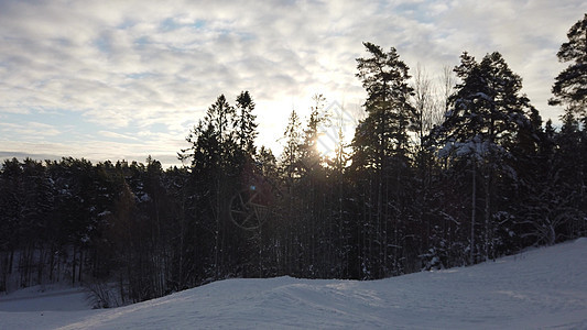
<instances>
[{"instance_id":1,"label":"dark forest of tall conifers behind the snowy slope, backlit by sun","mask_svg":"<svg viewBox=\"0 0 587 330\"><path fill-rule=\"evenodd\" d=\"M587 235L587 14L557 57L541 118L503 56L467 52L439 88L394 47L363 43L352 142L327 100L295 111L283 152L256 145L254 101L220 95L184 166L63 157L0 167L0 293L85 285L97 307L231 277L377 279L472 265ZM441 91L438 91L441 89Z\"/></svg>"}]
</instances>

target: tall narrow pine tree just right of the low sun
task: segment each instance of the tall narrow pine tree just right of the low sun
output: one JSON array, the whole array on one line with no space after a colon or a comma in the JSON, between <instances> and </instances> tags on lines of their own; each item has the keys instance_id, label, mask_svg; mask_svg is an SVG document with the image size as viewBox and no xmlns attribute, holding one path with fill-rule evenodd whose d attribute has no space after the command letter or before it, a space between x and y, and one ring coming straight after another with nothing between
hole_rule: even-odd
<instances>
[{"instance_id":1,"label":"tall narrow pine tree just right of the low sun","mask_svg":"<svg viewBox=\"0 0 587 330\"><path fill-rule=\"evenodd\" d=\"M357 77L367 91L367 118L352 141L352 169L361 182L361 270L363 278L401 274L400 263L410 168L410 123L416 111L410 103L409 67L395 48L363 43L369 57L357 58Z\"/></svg>"}]
</instances>

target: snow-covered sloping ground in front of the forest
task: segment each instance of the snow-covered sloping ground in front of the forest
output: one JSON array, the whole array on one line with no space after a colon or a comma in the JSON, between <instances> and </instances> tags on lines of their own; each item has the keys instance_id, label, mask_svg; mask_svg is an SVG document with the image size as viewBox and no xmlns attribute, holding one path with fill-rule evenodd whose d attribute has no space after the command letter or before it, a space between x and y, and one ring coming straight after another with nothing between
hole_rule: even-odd
<instances>
[{"instance_id":1,"label":"snow-covered sloping ground in front of the forest","mask_svg":"<svg viewBox=\"0 0 587 330\"><path fill-rule=\"evenodd\" d=\"M373 282L222 280L113 309L34 290L0 297L0 329L587 329L587 239Z\"/></svg>"}]
</instances>

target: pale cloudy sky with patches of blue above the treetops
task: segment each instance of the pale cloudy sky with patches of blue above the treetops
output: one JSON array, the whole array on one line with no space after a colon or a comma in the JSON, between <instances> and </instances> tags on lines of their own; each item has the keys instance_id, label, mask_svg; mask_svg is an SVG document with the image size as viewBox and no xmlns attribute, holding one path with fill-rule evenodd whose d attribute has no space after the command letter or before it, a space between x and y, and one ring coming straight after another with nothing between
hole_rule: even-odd
<instances>
[{"instance_id":1,"label":"pale cloudy sky with patches of blue above the treetops","mask_svg":"<svg viewBox=\"0 0 587 330\"><path fill-rule=\"evenodd\" d=\"M366 41L431 79L464 51L500 52L556 122L556 52L585 11L583 0L0 0L0 160L180 165L206 109L243 90L257 144L279 154L290 112L307 118L316 94L349 124L363 116Z\"/></svg>"}]
</instances>

